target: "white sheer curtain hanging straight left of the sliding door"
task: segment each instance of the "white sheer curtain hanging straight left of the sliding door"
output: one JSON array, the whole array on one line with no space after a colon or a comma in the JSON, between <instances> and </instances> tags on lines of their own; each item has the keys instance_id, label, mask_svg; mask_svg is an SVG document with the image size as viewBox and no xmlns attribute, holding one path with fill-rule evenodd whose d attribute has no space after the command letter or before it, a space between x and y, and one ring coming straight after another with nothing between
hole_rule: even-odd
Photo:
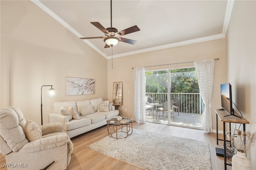
<instances>
[{"instance_id":1,"label":"white sheer curtain hanging straight left of the sliding door","mask_svg":"<svg viewBox=\"0 0 256 170\"><path fill-rule=\"evenodd\" d=\"M133 118L138 122L146 122L146 86L144 67L134 68L133 73Z\"/></svg>"}]
</instances>

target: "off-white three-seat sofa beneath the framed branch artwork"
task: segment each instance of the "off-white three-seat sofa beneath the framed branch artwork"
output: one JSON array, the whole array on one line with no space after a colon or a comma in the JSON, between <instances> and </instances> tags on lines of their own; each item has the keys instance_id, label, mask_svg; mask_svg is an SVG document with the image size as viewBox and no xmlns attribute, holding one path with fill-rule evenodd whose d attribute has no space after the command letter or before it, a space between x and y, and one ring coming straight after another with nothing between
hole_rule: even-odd
<instances>
[{"instance_id":1,"label":"off-white three-seat sofa beneath the framed branch artwork","mask_svg":"<svg viewBox=\"0 0 256 170\"><path fill-rule=\"evenodd\" d=\"M107 120L116 118L119 115L119 111L115 110L114 106L112 106L113 103L109 103L109 111L98 111L98 102L103 102L102 98L84 101L55 102L53 104L54 113L49 114L49 123L62 123L64 125L64 132L72 138L104 126L107 124ZM83 116L84 111L81 109L88 105L92 105L94 113ZM61 109L66 108L67 106L73 107L79 114L80 119L72 119L72 116L70 117L70 115L63 115Z\"/></svg>"}]
</instances>

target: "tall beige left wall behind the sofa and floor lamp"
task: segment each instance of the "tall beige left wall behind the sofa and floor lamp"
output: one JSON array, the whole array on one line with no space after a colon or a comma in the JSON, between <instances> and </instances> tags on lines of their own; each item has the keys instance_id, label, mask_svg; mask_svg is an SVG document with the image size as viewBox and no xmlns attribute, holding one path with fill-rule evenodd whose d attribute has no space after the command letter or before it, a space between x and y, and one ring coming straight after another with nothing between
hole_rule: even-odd
<instances>
[{"instance_id":1,"label":"tall beige left wall behind the sofa and floor lamp","mask_svg":"<svg viewBox=\"0 0 256 170\"><path fill-rule=\"evenodd\" d=\"M1 105L19 107L26 119L48 123L55 101L107 99L107 59L31 1L1 0ZM94 95L65 95L65 77L95 79Z\"/></svg>"}]
</instances>

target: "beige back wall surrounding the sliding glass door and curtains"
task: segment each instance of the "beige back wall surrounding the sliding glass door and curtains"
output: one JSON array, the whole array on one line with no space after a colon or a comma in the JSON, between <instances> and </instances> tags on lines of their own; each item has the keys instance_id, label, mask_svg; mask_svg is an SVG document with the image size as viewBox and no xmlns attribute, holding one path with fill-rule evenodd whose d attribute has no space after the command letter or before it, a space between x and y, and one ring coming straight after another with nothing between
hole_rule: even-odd
<instances>
[{"instance_id":1,"label":"beige back wall surrounding the sliding glass door and curtains","mask_svg":"<svg viewBox=\"0 0 256 170\"><path fill-rule=\"evenodd\" d=\"M193 62L202 59L214 59L214 87L211 101L213 129L216 130L216 114L214 109L221 108L220 84L226 83L226 45L225 39L194 43L158 51L151 51L126 57L108 60L108 98L112 98L112 84L114 81L123 81L123 105L118 108L120 115L132 117L133 112L133 69L152 65L171 64L169 66L146 67L146 70L180 68L194 66ZM180 63L180 64L175 64ZM130 91L130 94L128 94ZM127 109L127 111L125 111ZM221 127L222 124L220 124Z\"/></svg>"}]
</instances>

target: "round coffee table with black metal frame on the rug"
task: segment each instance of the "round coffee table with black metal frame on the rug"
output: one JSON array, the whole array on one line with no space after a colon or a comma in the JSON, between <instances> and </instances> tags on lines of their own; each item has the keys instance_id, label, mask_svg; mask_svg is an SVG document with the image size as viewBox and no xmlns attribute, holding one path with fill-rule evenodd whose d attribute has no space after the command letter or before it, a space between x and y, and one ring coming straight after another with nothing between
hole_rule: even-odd
<instances>
[{"instance_id":1,"label":"round coffee table with black metal frame on the rug","mask_svg":"<svg viewBox=\"0 0 256 170\"><path fill-rule=\"evenodd\" d=\"M108 128L108 136L112 137L112 138L116 138L116 139L121 139L121 138L127 138L129 135L132 134L132 120L130 119L129 122L127 123L120 123L120 121L118 121L116 118L112 118L110 120L107 120L107 128ZM109 132L109 125L113 125L113 130L114 132ZM123 129L123 125L126 125L126 130ZM131 125L131 126L130 126ZM121 130L117 130L118 126L122 126ZM131 132L130 132L131 130ZM130 132L130 133L129 133ZM118 137L118 133L124 133L124 136L121 135L121 137ZM114 136L113 136L114 135ZM123 136L123 137L122 137Z\"/></svg>"}]
</instances>

